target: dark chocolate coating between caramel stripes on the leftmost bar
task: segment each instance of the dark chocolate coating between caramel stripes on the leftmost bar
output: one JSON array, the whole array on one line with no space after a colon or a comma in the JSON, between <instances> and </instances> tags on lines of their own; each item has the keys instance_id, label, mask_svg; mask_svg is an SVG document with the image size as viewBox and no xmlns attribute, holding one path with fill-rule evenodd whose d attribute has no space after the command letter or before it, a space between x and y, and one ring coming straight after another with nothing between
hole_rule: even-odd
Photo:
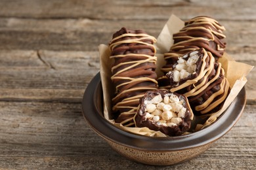
<instances>
[{"instance_id":1,"label":"dark chocolate coating between caramel stripes on the leftmost bar","mask_svg":"<svg viewBox=\"0 0 256 170\"><path fill-rule=\"evenodd\" d=\"M119 31L117 31L113 35L113 39L118 37L119 35L124 34L124 33L137 33L137 34L144 33L144 34L146 34L142 30L131 30L131 29L122 27ZM122 41L124 39L135 39L135 38L137 38L137 37L123 37L121 39L117 39L116 41ZM114 41L114 42L116 42L116 41ZM147 42L148 44L153 44L153 42L151 40L146 40L143 42ZM147 46L147 45L143 45L143 44L127 43L127 44L121 44L119 46L116 46L116 48L114 48L112 50L112 55L119 55L119 54L148 54L150 56L154 56L154 49L151 46ZM147 59L147 58L144 56L125 56L125 58L115 59L114 65L117 65L118 63L127 62L127 61L140 61L142 59ZM116 69L114 69L113 75L115 73L117 73L117 71L120 71L121 69L123 69L125 67L129 67L130 65L132 65L132 64L126 64L126 65L121 65L121 67L117 67ZM156 75L155 69L156 69L156 64L146 62L146 63L142 63L140 65L137 65L136 67L133 67L123 73L119 73L118 76L129 76L131 78L139 78L139 77L146 76L149 78L156 79L157 75ZM114 86L118 86L119 84L122 84L123 82L127 82L127 80L113 80L113 82L114 82ZM151 87L156 87L156 84L154 82L148 82L148 81L136 82L133 84L128 84L126 86L120 86L118 88L117 93L123 92L123 90L135 88L138 86L144 86L144 87L146 86L148 88L151 88ZM113 102L114 102L114 104L116 104L119 101L121 101L122 99L125 99L127 97L132 97L132 96L135 96L135 95L138 95L141 93L144 93L144 91L143 92L124 93L123 95L121 95L119 98L117 98ZM121 111L121 112L123 112L123 111Z\"/></svg>"}]
</instances>

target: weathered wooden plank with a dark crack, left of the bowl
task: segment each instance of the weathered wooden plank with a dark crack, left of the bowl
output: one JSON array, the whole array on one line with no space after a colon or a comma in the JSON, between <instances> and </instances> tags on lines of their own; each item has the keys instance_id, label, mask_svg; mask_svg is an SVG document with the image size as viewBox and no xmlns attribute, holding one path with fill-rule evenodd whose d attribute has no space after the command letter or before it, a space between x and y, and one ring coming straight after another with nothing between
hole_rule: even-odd
<instances>
[{"instance_id":1,"label":"weathered wooden plank with a dark crack, left of the bowl","mask_svg":"<svg viewBox=\"0 0 256 170\"><path fill-rule=\"evenodd\" d=\"M99 58L98 52L3 50L0 70L1 88L81 90L98 73Z\"/></svg>"}]
</instances>

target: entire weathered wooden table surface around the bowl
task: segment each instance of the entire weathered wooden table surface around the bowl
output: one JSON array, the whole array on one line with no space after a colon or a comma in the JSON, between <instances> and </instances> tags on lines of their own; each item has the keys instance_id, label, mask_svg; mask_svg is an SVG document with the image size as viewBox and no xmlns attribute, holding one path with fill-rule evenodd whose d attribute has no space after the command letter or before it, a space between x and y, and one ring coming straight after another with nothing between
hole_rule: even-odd
<instances>
[{"instance_id":1,"label":"entire weathered wooden table surface around the bowl","mask_svg":"<svg viewBox=\"0 0 256 170\"><path fill-rule=\"evenodd\" d=\"M172 167L119 156L81 114L83 92L100 69L98 44L122 26L157 37L171 14L211 16L226 27L228 54L255 65L255 1L1 0L0 9L0 169L256 168L255 69L236 126Z\"/></svg>"}]
</instances>

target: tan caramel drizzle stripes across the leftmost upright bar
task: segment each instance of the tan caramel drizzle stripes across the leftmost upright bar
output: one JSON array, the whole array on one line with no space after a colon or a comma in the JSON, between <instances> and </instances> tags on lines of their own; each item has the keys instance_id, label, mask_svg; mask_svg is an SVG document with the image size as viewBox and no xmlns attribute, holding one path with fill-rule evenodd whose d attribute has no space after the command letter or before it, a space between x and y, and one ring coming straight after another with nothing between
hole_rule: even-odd
<instances>
[{"instance_id":1,"label":"tan caramel drizzle stripes across the leftmost upright bar","mask_svg":"<svg viewBox=\"0 0 256 170\"><path fill-rule=\"evenodd\" d=\"M118 39L121 39L123 37L134 37L134 39L126 39L126 40L117 41ZM138 38L138 37L140 37L140 38ZM144 34L144 33L141 33L141 34L125 33L123 35L119 35L118 37L116 37L116 38L112 39L112 41L110 41L110 50L113 51L114 48L116 48L120 44L136 43L136 44L143 44L143 45L149 46L149 48L153 49L154 54L156 54L156 48L154 47L154 45L148 44L147 42L142 42L145 40L150 40L152 42L156 42L156 39L154 37ZM121 73L131 70L142 63L150 62L150 63L156 64L156 60L157 60L156 56L150 56L147 54L120 54L120 55L110 56L110 58L114 58L114 59L115 58L125 58L127 56L143 56L147 59L141 59L141 60L137 60L137 61L127 61L127 62L119 63L119 64L115 65L114 67L112 67L112 72L113 72L114 69L117 69L117 68L121 67L122 65L131 64L131 65L129 65L129 67L125 67L125 68L117 71L117 73L115 73L114 75L112 75L112 77L111 77L112 80L127 80L127 81L119 84L118 86L116 86L116 91L119 88L121 88L122 86L126 86L133 82L149 81L149 82L154 82L156 85L158 84L158 82L154 78L150 78L150 77L131 78L129 76L119 76ZM136 92L136 91L143 91L143 90L157 90L157 89L158 88L147 87L147 86L144 86L144 87L139 86L139 87L135 87L135 88L130 88L130 89L123 90L123 91L119 92L116 95L116 97L114 97L112 99L112 101L114 101L115 99L117 99L118 97L120 97L121 95L123 95L124 93L127 93L127 92ZM127 127L134 125L134 122L132 120L133 120L133 116L137 112L138 107L133 107L131 105L129 106L129 104L130 103L139 103L139 100L143 95L144 94L138 94L138 95L135 95L132 97L127 97L125 99L122 99L122 101L119 101L118 103L116 103L116 105L114 105L113 110L130 109L127 112L121 112L119 114L119 117L122 117L122 116L127 117L127 119L120 122L120 124L122 124L123 126L127 126Z\"/></svg>"}]
</instances>

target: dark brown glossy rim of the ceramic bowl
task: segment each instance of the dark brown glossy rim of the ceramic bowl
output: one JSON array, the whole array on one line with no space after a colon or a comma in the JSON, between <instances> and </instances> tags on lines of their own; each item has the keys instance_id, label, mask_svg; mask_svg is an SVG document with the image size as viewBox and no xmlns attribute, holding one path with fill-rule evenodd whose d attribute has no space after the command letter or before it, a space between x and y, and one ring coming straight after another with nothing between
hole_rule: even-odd
<instances>
[{"instance_id":1,"label":"dark brown glossy rim of the ceramic bowl","mask_svg":"<svg viewBox=\"0 0 256 170\"><path fill-rule=\"evenodd\" d=\"M177 137L147 137L123 131L106 120L102 110L96 107L95 95L97 90L101 90L102 93L100 73L93 77L83 95L82 112L87 124L98 135L113 143L137 150L155 152L186 150L217 141L236 124L242 116L246 103L245 88L242 88L228 109L211 126L195 133Z\"/></svg>"}]
</instances>

